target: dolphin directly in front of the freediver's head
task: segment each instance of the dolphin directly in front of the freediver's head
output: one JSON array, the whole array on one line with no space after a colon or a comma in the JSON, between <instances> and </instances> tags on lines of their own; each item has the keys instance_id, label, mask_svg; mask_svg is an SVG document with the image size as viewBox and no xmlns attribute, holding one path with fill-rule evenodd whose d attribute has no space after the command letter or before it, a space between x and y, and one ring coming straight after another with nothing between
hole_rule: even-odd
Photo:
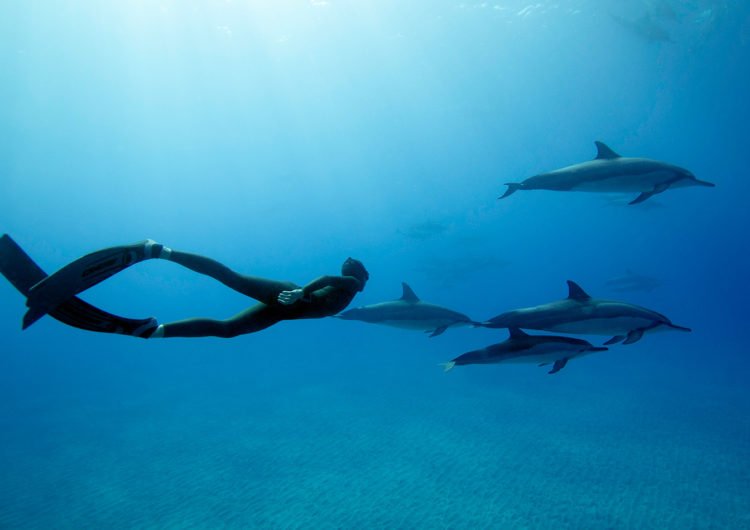
<instances>
[{"instance_id":1,"label":"dolphin directly in front of the freediver's head","mask_svg":"<svg viewBox=\"0 0 750 530\"><path fill-rule=\"evenodd\" d=\"M430 333L430 337L440 335L451 326L479 325L462 313L422 302L406 283L401 286L403 294L398 300L349 309L336 317L397 328L421 329Z\"/></svg>"}]
</instances>

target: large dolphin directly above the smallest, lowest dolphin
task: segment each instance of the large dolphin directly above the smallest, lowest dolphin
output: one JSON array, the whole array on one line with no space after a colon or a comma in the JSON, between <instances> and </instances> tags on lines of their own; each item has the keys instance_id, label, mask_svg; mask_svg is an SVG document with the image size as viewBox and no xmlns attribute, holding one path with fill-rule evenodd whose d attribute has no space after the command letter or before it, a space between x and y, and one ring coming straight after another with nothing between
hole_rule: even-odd
<instances>
[{"instance_id":1,"label":"large dolphin directly above the smallest, lowest dolphin","mask_svg":"<svg viewBox=\"0 0 750 530\"><path fill-rule=\"evenodd\" d=\"M612 335L605 345L633 344L646 331L676 329L664 315L625 302L591 298L581 287L568 280L568 297L535 307L516 309L482 322L487 328L523 328L581 333L584 335Z\"/></svg>"}]
</instances>

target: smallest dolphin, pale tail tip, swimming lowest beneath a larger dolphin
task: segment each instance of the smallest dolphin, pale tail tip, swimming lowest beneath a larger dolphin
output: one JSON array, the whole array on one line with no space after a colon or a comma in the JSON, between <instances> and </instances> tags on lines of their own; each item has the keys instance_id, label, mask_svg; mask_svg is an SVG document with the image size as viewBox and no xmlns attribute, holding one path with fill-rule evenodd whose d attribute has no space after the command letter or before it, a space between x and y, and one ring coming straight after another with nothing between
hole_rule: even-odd
<instances>
[{"instance_id":1,"label":"smallest dolphin, pale tail tip, swimming lowest beneath a larger dolphin","mask_svg":"<svg viewBox=\"0 0 750 530\"><path fill-rule=\"evenodd\" d=\"M518 328L509 328L508 331L510 336L505 341L459 355L444 363L444 370L447 372L456 365L465 364L539 363L539 366L544 366L553 363L552 369L547 373L554 374L565 368L573 357L607 351L607 348L593 346L581 339L528 335Z\"/></svg>"}]
</instances>

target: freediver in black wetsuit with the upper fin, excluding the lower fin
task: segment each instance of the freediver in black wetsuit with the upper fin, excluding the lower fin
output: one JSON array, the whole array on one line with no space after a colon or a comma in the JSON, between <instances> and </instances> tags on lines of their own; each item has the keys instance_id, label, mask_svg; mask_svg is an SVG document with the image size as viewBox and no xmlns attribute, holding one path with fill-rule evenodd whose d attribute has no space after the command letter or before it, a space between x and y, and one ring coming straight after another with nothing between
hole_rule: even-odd
<instances>
[{"instance_id":1,"label":"freediver in black wetsuit with the upper fin, excluding the lower fin","mask_svg":"<svg viewBox=\"0 0 750 530\"><path fill-rule=\"evenodd\" d=\"M48 276L30 290L29 313L41 316L134 263L154 258L210 276L259 303L226 320L191 318L158 324L156 319L150 319L130 333L142 338L229 338L260 331L282 320L333 316L349 305L370 277L360 261L347 258L341 266L341 276L321 276L301 287L293 282L239 274L211 258L147 240L93 252Z\"/></svg>"}]
</instances>

